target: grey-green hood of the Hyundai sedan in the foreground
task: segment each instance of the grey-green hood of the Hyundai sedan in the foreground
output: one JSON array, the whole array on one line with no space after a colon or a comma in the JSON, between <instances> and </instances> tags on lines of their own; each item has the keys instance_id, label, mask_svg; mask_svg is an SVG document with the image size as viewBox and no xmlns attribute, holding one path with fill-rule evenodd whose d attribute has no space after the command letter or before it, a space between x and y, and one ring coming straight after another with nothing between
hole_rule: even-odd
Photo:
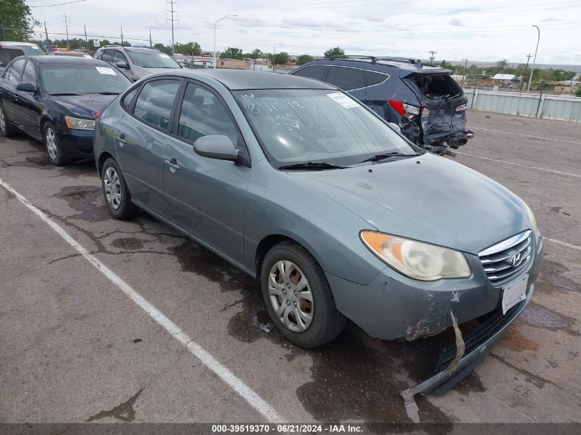
<instances>
[{"instance_id":1,"label":"grey-green hood of the Hyundai sedan in the foreground","mask_svg":"<svg viewBox=\"0 0 581 435\"><path fill-rule=\"evenodd\" d=\"M514 193L429 153L373 166L287 173L358 214L371 230L471 254L530 228L525 203Z\"/></svg>"}]
</instances>

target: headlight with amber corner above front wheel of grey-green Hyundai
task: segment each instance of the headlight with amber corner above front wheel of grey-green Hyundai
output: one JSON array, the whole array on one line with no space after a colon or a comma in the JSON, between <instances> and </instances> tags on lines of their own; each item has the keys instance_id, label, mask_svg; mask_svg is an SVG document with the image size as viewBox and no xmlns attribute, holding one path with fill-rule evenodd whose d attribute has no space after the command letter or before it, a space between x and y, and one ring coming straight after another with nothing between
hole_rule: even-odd
<instances>
[{"instance_id":1,"label":"headlight with amber corner above front wheel of grey-green Hyundai","mask_svg":"<svg viewBox=\"0 0 581 435\"><path fill-rule=\"evenodd\" d=\"M470 276L468 261L454 249L373 231L362 231L361 239L388 266L410 278L435 281Z\"/></svg>"}]
</instances>

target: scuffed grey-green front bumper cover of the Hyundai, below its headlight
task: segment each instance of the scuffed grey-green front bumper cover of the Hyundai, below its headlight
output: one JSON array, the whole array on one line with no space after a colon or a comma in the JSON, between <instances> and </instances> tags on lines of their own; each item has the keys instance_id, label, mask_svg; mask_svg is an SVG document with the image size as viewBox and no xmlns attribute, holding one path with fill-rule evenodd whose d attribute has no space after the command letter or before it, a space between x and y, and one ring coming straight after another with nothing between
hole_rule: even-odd
<instances>
[{"instance_id":1,"label":"scuffed grey-green front bumper cover of the Hyundai, below its headlight","mask_svg":"<svg viewBox=\"0 0 581 435\"><path fill-rule=\"evenodd\" d=\"M529 275L528 287L538 276L542 238L534 247L532 258L521 272ZM416 339L452 326L450 312L462 324L501 306L502 289L488 280L479 258L467 254L466 259L472 275L457 280L418 281L390 267L368 285L326 275L339 311L371 337Z\"/></svg>"}]
</instances>

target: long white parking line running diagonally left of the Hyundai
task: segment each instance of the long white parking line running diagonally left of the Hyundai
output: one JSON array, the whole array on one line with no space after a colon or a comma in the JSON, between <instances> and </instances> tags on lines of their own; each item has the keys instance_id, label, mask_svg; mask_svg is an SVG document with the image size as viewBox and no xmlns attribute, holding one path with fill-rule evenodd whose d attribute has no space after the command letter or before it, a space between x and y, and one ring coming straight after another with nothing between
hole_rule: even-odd
<instances>
[{"instance_id":1,"label":"long white parking line running diagonally left of the Hyundai","mask_svg":"<svg viewBox=\"0 0 581 435\"><path fill-rule=\"evenodd\" d=\"M36 208L28 199L23 197L19 192L10 187L7 183L0 179L0 186L8 190L8 192L14 194L17 199L26 207L28 207L36 216L39 216L47 225L49 225L59 236L65 239L65 241L71 245L76 252L85 257L91 265L94 265L103 275L105 275L113 284L115 284L119 289L125 293L135 304L137 304L140 309L145 311L149 317L151 317L157 324L160 324L172 337L177 339L178 342L186 346L192 355L197 357L204 366L215 372L216 375L222 379L225 383L232 388L235 392L240 394L242 399L248 402L252 408L259 412L267 421L270 423L283 422L283 416L278 414L272 406L267 403L258 393L254 392L252 388L247 386L244 381L239 379L234 373L232 373L228 368L220 364L215 357L212 357L208 351L204 350L199 344L193 341L182 329L179 328L175 323L168 319L160 310L155 308L150 302L148 302L142 295L131 288L127 282L122 280L115 272L113 272L109 267L105 266L100 262L95 256L91 255L83 245L80 245L72 236L67 233L61 225L58 225L55 221L50 219L44 212Z\"/></svg>"}]
</instances>

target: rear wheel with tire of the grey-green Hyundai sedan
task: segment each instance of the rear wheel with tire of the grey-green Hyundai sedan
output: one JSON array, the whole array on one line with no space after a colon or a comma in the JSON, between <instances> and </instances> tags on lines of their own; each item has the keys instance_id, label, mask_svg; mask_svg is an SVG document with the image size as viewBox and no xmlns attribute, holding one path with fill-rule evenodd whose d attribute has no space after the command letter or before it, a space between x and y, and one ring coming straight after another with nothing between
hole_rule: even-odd
<instances>
[{"instance_id":1,"label":"rear wheel with tire of the grey-green Hyundai sedan","mask_svg":"<svg viewBox=\"0 0 581 435\"><path fill-rule=\"evenodd\" d=\"M131 202L127 183L111 157L105 160L101 170L101 188L109 213L116 219L131 219L138 213L137 205Z\"/></svg>"}]
</instances>

